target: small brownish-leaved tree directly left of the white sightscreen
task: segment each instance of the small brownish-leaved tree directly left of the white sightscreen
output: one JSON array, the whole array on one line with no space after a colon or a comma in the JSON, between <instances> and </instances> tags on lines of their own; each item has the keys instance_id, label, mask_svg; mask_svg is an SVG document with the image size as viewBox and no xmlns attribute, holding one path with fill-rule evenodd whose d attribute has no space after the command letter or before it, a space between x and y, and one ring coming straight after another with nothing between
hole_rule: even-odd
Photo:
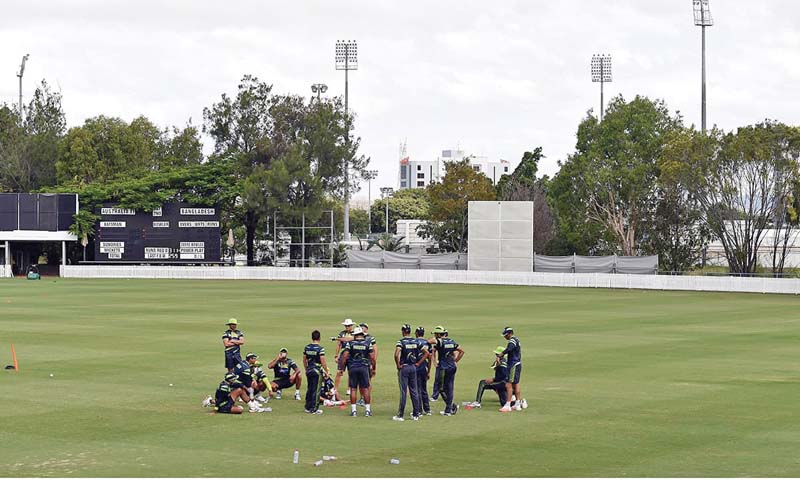
<instances>
[{"instance_id":1,"label":"small brownish-leaved tree directly left of the white sightscreen","mask_svg":"<svg viewBox=\"0 0 800 480\"><path fill-rule=\"evenodd\" d=\"M420 235L436 239L443 251L466 252L469 202L496 199L491 180L465 159L445 165L444 178L427 190L429 220L419 229Z\"/></svg>"}]
</instances>

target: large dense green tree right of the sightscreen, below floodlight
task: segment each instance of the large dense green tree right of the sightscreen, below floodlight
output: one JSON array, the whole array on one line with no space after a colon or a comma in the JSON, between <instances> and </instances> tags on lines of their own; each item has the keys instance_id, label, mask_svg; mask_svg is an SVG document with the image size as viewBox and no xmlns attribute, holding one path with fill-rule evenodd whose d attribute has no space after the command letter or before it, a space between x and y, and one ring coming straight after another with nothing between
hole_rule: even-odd
<instances>
[{"instance_id":1,"label":"large dense green tree right of the sightscreen, below floodlight","mask_svg":"<svg viewBox=\"0 0 800 480\"><path fill-rule=\"evenodd\" d=\"M598 240L606 237L623 255L635 255L655 215L657 162L665 137L681 125L681 117L671 117L664 102L639 96L631 102L613 99L602 122L589 114L578 127L575 153L557 176L558 203L570 213L585 205L577 221L595 224L590 230L599 233ZM574 185L565 188L564 183ZM569 221L562 212L559 219Z\"/></svg>"}]
</instances>

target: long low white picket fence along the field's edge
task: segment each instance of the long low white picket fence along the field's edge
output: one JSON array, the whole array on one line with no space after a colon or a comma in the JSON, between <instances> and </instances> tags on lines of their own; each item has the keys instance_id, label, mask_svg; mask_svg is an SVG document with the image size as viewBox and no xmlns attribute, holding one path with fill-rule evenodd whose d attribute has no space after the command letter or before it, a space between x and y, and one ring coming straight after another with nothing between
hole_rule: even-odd
<instances>
[{"instance_id":1,"label":"long low white picket fence along the field's edge","mask_svg":"<svg viewBox=\"0 0 800 480\"><path fill-rule=\"evenodd\" d=\"M537 287L623 288L799 294L800 279L623 275L609 273L480 272L361 268L281 267L61 267L65 278L169 278L228 280L304 280L332 282L464 283Z\"/></svg>"}]
</instances>

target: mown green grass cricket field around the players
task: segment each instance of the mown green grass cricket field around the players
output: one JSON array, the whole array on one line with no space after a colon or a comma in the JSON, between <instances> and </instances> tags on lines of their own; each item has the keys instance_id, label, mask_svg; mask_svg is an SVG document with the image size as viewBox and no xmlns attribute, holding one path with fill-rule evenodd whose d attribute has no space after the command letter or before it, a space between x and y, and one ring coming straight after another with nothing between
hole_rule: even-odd
<instances>
[{"instance_id":1,"label":"mown green grass cricket field around the players","mask_svg":"<svg viewBox=\"0 0 800 480\"><path fill-rule=\"evenodd\" d=\"M375 417L307 415L291 395L272 413L209 415L200 401L221 379L232 316L244 351L286 346L295 360L313 328L326 338L346 316L370 323ZM21 371L0 373L0 476L796 477L798 317L792 296L1 281L0 362L13 341ZM459 403L474 399L500 331L514 326L530 408L500 414L487 392L482 410L392 422L391 352L406 322L443 324L466 350ZM322 455L339 460L312 466Z\"/></svg>"}]
</instances>

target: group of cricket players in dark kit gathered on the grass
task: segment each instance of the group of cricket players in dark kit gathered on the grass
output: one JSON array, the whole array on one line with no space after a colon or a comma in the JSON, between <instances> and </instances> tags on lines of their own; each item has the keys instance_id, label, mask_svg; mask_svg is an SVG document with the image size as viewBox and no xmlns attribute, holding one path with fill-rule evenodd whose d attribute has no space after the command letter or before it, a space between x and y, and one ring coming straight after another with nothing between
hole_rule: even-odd
<instances>
[{"instance_id":1,"label":"group of cricket players in dark kit gathered on the grass","mask_svg":"<svg viewBox=\"0 0 800 480\"><path fill-rule=\"evenodd\" d=\"M303 349L303 370L306 376L305 412L320 415L320 406L340 406L345 408L346 401L339 396L339 384L344 373L348 375L350 416L357 416L357 406L363 405L365 416L372 416L372 384L377 373L378 346L375 337L369 334L369 325L356 325L351 319L342 322L344 329L335 337L336 374L332 378L325 358L325 349L321 345L321 334L318 330L311 333L311 343ZM272 398L281 398L282 391L295 387L294 398L301 400L300 388L303 383L300 367L288 357L288 349L281 348L269 362L266 369L273 370L272 380L267 378L259 356L248 353L241 357L244 345L244 334L238 329L238 321L230 319L228 329L222 335L225 348L225 368L227 373L217 387L213 396L203 402L204 407L214 407L219 413L240 414L244 412L237 402L246 404L250 412L270 412L266 404ZM442 326L433 329L433 337L426 338L425 328L417 327L414 337L412 328L401 326L402 338L395 344L394 363L397 367L400 387L400 402L395 421L404 421L407 398L411 400L411 419L419 420L423 415L431 415L431 402L441 397L444 416L455 415L458 404L454 400L455 375L458 362L464 356L461 346L449 336ZM520 395L520 376L522 372L522 350L519 339L514 336L510 327L503 329L503 337L507 346L494 350L492 378L478 383L478 392L474 402L466 402L467 408L480 408L483 392L493 390L497 393L502 407L501 412L522 410L527 402ZM433 393L428 395L428 380L433 370ZM358 396L361 399L358 400Z\"/></svg>"}]
</instances>

